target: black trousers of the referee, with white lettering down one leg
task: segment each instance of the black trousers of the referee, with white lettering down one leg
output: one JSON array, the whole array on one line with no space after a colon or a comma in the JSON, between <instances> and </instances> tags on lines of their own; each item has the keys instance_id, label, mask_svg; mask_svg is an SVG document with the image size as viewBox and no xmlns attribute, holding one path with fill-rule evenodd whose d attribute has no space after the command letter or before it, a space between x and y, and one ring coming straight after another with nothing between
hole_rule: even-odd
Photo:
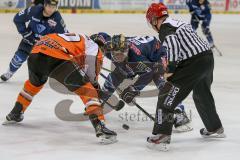
<instances>
[{"instance_id":1,"label":"black trousers of the referee, with white lettering down one leg","mask_svg":"<svg viewBox=\"0 0 240 160\"><path fill-rule=\"evenodd\" d=\"M156 121L153 134L171 135L174 123L174 108L191 91L197 111L208 131L222 127L211 93L214 58L206 51L179 63L168 84L159 92ZM170 84L170 85L169 85Z\"/></svg>"}]
</instances>

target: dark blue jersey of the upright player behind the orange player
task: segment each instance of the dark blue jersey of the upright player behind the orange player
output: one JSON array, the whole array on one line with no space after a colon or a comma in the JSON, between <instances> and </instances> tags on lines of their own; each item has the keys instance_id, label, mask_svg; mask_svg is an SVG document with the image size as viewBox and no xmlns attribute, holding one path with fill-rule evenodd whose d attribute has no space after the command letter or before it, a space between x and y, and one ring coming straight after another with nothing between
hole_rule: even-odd
<instances>
[{"instance_id":1,"label":"dark blue jersey of the upright player behind the orange player","mask_svg":"<svg viewBox=\"0 0 240 160\"><path fill-rule=\"evenodd\" d=\"M67 32L65 23L58 11L51 17L44 17L43 9L43 5L39 4L17 13L13 21L18 32L23 35L26 32L32 31L35 38L49 33Z\"/></svg>"}]
</instances>

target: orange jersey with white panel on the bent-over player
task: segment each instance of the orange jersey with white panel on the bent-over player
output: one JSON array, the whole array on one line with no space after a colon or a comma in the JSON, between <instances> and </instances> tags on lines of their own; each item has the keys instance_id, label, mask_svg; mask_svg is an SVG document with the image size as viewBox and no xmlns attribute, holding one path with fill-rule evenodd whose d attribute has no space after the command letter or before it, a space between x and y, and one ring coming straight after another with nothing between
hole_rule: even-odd
<instances>
[{"instance_id":1,"label":"orange jersey with white panel on the bent-over player","mask_svg":"<svg viewBox=\"0 0 240 160\"><path fill-rule=\"evenodd\" d=\"M95 42L83 34L75 33L43 36L32 49L32 54L38 53L76 62L92 82L98 75L103 60Z\"/></svg>"}]
</instances>

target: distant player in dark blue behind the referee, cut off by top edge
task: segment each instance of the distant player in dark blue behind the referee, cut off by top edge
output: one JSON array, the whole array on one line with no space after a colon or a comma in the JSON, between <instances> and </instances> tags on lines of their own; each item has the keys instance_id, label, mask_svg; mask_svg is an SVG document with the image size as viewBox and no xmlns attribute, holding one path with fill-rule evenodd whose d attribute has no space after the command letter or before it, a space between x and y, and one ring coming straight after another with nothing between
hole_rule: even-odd
<instances>
[{"instance_id":1,"label":"distant player in dark blue behind the referee, cut off by top edge","mask_svg":"<svg viewBox=\"0 0 240 160\"><path fill-rule=\"evenodd\" d=\"M206 36L210 47L214 47L214 41L212 33L210 31L211 23L211 7L208 0L186 0L186 4L189 7L191 13L191 25L194 30L197 30L198 25L202 22L202 31Z\"/></svg>"}]
</instances>

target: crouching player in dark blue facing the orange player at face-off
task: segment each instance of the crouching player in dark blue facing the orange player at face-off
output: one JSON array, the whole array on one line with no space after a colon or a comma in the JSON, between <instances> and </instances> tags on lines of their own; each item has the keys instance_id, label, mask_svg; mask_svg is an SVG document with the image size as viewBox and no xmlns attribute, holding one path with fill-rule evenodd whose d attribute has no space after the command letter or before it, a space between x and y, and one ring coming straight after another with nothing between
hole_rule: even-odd
<instances>
[{"instance_id":1,"label":"crouching player in dark blue facing the orange player at face-off","mask_svg":"<svg viewBox=\"0 0 240 160\"><path fill-rule=\"evenodd\" d=\"M122 39L122 47L120 52L111 52L111 49L104 50L105 56L110 59L116 66L105 81L102 90L108 92L107 96L103 99L105 101L115 92L116 88L125 80L133 79L136 75L139 77L133 85L128 86L121 94L120 97L127 103L130 103L135 96L140 94L140 91L151 81L154 81L159 90L165 83L162 76L164 71L161 71L161 66L166 63L166 50L161 47L160 41L153 36L136 36L125 38L123 35L109 36L107 33L98 33L92 35L94 41L103 45L112 42L114 48L114 41ZM126 40L127 39L127 40ZM119 43L119 42L116 42ZM109 46L109 45L105 45ZM108 52L108 50L110 50ZM176 107L175 128L177 131L184 132L192 130L187 117L184 106L179 104Z\"/></svg>"}]
</instances>

